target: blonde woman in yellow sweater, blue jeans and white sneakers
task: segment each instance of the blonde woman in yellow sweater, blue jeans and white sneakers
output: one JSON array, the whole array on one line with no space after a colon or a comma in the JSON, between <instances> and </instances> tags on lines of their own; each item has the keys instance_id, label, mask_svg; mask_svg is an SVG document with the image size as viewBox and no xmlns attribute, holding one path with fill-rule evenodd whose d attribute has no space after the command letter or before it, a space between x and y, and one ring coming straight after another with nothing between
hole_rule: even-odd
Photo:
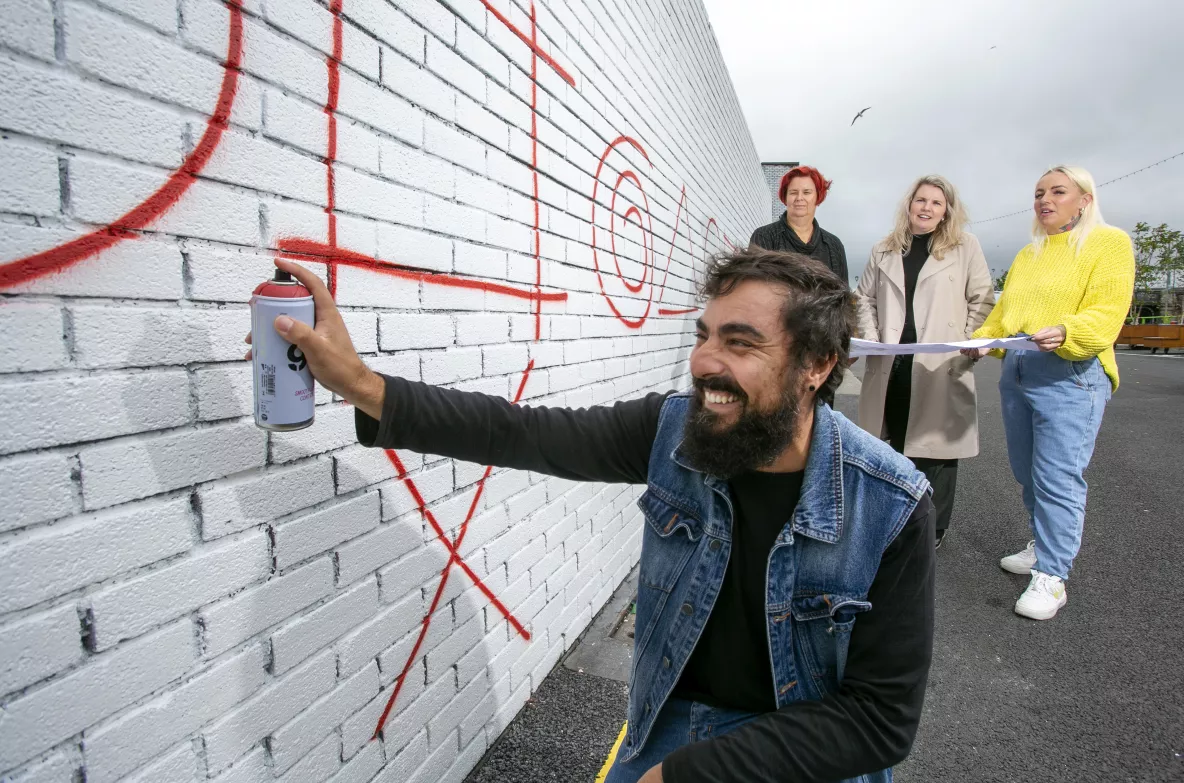
<instances>
[{"instance_id":1,"label":"blonde woman in yellow sweater, blue jeans and white sneakers","mask_svg":"<svg viewBox=\"0 0 1184 783\"><path fill-rule=\"evenodd\" d=\"M1131 238L1106 225L1093 177L1057 166L1036 184L1032 243L1019 251L976 338L1031 335L1040 351L1003 358L1008 458L1034 540L999 565L1031 573L1016 612L1050 620L1081 547L1086 480L1102 411L1118 389L1114 340L1134 293ZM973 359L980 351L964 351Z\"/></svg>"}]
</instances>

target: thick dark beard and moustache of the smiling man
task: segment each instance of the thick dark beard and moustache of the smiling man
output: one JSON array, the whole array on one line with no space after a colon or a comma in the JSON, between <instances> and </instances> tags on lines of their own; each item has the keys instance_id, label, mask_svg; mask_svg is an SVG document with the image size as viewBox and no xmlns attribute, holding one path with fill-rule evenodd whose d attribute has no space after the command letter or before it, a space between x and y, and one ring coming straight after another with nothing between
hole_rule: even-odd
<instances>
[{"instance_id":1,"label":"thick dark beard and moustache of the smiling man","mask_svg":"<svg viewBox=\"0 0 1184 783\"><path fill-rule=\"evenodd\" d=\"M781 454L797 432L802 410L797 373L787 379L777 407L758 411L748 404L748 396L725 378L695 379L695 394L683 426L682 453L696 470L721 479L731 479L748 470L768 467ZM740 416L731 425L720 428L722 417L703 406L707 390L735 396Z\"/></svg>"}]
</instances>

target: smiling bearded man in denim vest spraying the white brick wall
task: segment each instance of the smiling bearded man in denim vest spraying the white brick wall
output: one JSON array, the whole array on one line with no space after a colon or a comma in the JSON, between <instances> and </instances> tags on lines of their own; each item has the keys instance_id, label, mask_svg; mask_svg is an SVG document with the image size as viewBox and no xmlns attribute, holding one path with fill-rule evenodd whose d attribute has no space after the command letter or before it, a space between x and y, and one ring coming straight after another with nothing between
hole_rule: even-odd
<instances>
[{"instance_id":1,"label":"smiling bearded man in denim vest spraying the white brick wall","mask_svg":"<svg viewBox=\"0 0 1184 783\"><path fill-rule=\"evenodd\" d=\"M933 642L925 476L821 402L848 365L844 281L800 255L715 259L693 387L611 406L511 405L379 376L320 280L276 328L353 403L365 445L646 484L629 720L606 783L892 779Z\"/></svg>"}]
</instances>

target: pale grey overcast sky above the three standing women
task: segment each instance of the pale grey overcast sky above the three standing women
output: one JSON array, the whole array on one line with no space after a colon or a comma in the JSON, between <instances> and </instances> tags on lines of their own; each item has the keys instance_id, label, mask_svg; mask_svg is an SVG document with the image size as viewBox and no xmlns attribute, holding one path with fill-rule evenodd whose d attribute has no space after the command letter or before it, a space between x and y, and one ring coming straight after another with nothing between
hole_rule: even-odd
<instances>
[{"instance_id":1,"label":"pale grey overcast sky above the three standing women","mask_svg":"<svg viewBox=\"0 0 1184 783\"><path fill-rule=\"evenodd\" d=\"M1102 182L1184 152L1180 0L704 2L761 160L835 181L817 217L852 284L921 174L983 220L1030 210L1048 166ZM1099 195L1128 231L1184 229L1184 156ZM1027 244L1030 214L971 226L989 267Z\"/></svg>"}]
</instances>

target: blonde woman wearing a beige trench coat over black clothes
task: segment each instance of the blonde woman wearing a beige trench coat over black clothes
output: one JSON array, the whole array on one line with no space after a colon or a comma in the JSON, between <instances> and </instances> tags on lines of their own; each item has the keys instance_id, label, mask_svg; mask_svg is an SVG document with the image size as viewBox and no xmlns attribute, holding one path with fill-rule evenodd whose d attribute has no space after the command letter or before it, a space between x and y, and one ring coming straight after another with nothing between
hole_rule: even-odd
<instances>
[{"instance_id":1,"label":"blonde woman wearing a beige trench coat over black clothes","mask_svg":"<svg viewBox=\"0 0 1184 783\"><path fill-rule=\"evenodd\" d=\"M871 249L856 299L860 333L877 342L954 342L995 304L983 248L944 177L908 190L893 232ZM958 460L978 454L973 362L957 353L869 357L860 426L913 460L933 484L937 546L953 514Z\"/></svg>"}]
</instances>

